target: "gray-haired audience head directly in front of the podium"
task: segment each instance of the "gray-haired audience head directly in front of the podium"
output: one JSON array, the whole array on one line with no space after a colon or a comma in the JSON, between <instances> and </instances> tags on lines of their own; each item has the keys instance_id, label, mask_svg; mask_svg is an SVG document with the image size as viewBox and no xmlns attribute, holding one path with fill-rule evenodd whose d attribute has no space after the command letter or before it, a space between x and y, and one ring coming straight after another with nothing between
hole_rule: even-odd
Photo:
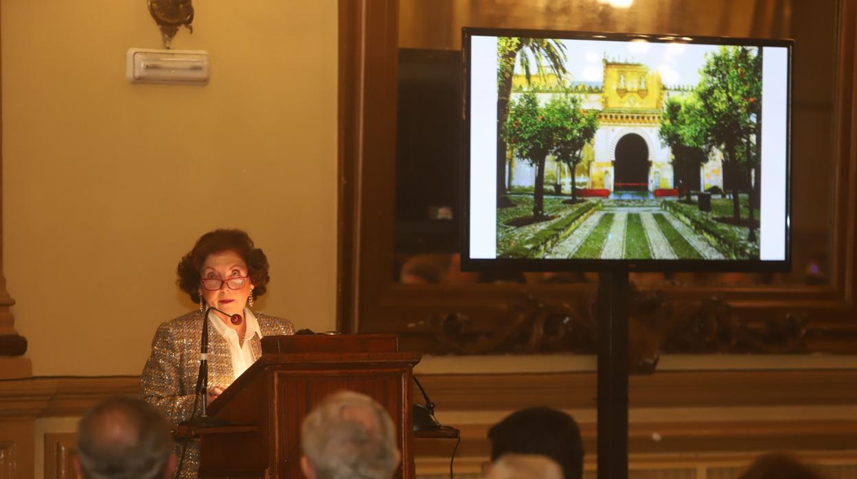
<instances>
[{"instance_id":1,"label":"gray-haired audience head directly in front of the podium","mask_svg":"<svg viewBox=\"0 0 857 479\"><path fill-rule=\"evenodd\" d=\"M301 449L319 479L389 479L399 466L393 420L357 392L336 392L310 411Z\"/></svg>"}]
</instances>

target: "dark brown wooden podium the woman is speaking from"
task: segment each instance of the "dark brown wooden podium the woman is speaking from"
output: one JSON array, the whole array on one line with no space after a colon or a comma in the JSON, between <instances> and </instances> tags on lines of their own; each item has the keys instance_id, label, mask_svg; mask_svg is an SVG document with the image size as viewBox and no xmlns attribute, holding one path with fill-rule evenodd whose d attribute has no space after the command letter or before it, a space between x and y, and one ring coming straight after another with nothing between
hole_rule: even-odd
<instances>
[{"instance_id":1,"label":"dark brown wooden podium the woman is speaking from","mask_svg":"<svg viewBox=\"0 0 857 479\"><path fill-rule=\"evenodd\" d=\"M411 369L417 352L399 351L393 334L272 336L262 356L219 398L208 415L229 426L200 428L201 479L299 478L301 422L332 392L375 398L396 423L402 466L413 479Z\"/></svg>"}]
</instances>

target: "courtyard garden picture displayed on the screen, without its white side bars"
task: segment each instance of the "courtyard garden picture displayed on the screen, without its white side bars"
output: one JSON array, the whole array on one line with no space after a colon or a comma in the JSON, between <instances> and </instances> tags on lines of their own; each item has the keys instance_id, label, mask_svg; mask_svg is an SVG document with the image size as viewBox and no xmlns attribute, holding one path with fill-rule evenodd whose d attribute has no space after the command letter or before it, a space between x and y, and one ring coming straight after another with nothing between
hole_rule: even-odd
<instances>
[{"instance_id":1,"label":"courtyard garden picture displayed on the screen, without its white side bars","mask_svg":"<svg viewBox=\"0 0 857 479\"><path fill-rule=\"evenodd\" d=\"M758 259L761 51L620 48L498 39L498 257Z\"/></svg>"}]
</instances>

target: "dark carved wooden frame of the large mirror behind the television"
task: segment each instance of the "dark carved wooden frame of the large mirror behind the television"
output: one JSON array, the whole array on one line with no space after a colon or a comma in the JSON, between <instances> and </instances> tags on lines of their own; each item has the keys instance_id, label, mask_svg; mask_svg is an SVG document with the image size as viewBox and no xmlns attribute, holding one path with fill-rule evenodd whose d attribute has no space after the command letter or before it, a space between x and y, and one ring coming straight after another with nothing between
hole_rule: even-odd
<instances>
[{"instance_id":1,"label":"dark carved wooden frame of the large mirror behind the television","mask_svg":"<svg viewBox=\"0 0 857 479\"><path fill-rule=\"evenodd\" d=\"M396 332L402 337L403 347L423 352L523 352L510 341L496 341L498 346L494 350L483 348L482 344L490 343L491 335L498 333L509 338L524 335L524 343L527 338L538 336L541 323L536 320L525 321L531 325L529 329L514 329L519 326L520 310L528 308L533 298L586 311L594 294L594 282L412 285L399 284L393 279L397 5L397 0L340 1L339 327L347 332ZM784 8L782 3L777 5ZM699 9L703 7L686 4L680 11L676 10L675 15L698 20ZM853 58L857 40L857 0L842 0L836 9L836 54L832 60L836 71L830 72L835 78L833 106L830 106L830 152L834 157L830 176L835 179L830 202L819 202L822 205L819 209L832 209L826 230L829 232L817 231L813 229L815 226L798 227L801 222L809 222L806 216L812 215L812 210L806 213L805 208L802 217L795 215L793 218L795 257L806 261L815 250L822 248L829 258L830 270L818 280L795 282L792 278L774 284L763 284L762 279L752 275L743 277L742 284L731 284L728 277L717 277L717 284L687 278L680 284L652 285L641 279L638 289L661 295L673 318L679 315L677 312L681 308L698 308L712 298L722 302L728 310L722 326L727 327L728 333L737 334L736 340L713 345L704 343L704 338L679 338L681 340L670 342L667 339L672 331L668 327L655 325L652 328L643 321L644 332L659 336L652 340L657 348L722 353L857 351L857 304L854 302L857 293L857 222L854 221L857 218L857 147L854 147L857 64ZM770 23L770 28L757 26L753 27L757 28L753 32L761 36L782 35L783 26L788 26L785 21L800 20L800 15L789 16L782 10L777 10L780 13L775 10L765 10L764 18L757 19L765 25ZM342 15L343 12L348 15ZM723 18L728 21L728 15ZM733 26L718 28L729 27ZM748 34L751 33L745 36ZM803 58L809 54L807 51L801 53ZM806 87L795 85L796 90ZM827 118L829 106L824 101L800 98L796 107L805 112L823 111ZM809 117L794 119L796 124L807 121ZM806 150L806 145L801 147ZM800 159L796 160L810 160L806 151L799 153ZM800 265L795 263L795 266ZM444 320L451 314L466 319L466 324L461 326L463 329L458 331L463 333L452 339L447 334L448 328L444 329ZM682 327L688 329L687 324L672 326L676 331L681 331ZM578 324L578 331L581 328L585 329L584 323ZM451 344L444 344L444 340L450 340ZM536 347L526 352L550 352L552 347L536 341ZM576 349L563 346L560 350Z\"/></svg>"}]
</instances>

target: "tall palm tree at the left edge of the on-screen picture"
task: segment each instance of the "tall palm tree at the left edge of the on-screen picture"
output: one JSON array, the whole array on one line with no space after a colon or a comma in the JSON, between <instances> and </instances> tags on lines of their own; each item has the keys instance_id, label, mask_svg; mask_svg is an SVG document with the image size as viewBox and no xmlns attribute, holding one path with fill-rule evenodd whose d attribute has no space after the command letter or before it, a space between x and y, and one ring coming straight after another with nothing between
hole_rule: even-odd
<instances>
[{"instance_id":1,"label":"tall palm tree at the left edge of the on-screen picture","mask_svg":"<svg viewBox=\"0 0 857 479\"><path fill-rule=\"evenodd\" d=\"M554 71L557 81L566 73L566 47L556 39L497 39L497 207L511 207L506 196L506 120L509 117L509 97L512 96L512 76L519 63L527 83L530 83L530 57L535 57L541 71L542 62Z\"/></svg>"}]
</instances>

